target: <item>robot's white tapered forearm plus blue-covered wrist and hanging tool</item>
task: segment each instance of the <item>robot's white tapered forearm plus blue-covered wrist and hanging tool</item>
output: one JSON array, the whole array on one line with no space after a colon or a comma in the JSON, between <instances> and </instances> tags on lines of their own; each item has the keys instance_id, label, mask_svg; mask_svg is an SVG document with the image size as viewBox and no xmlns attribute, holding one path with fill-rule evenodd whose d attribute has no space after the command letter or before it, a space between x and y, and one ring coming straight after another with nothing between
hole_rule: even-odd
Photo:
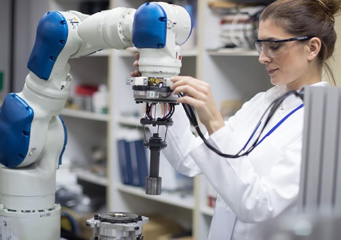
<instances>
[{"instance_id":1,"label":"robot's white tapered forearm plus blue-covered wrist and hanging tool","mask_svg":"<svg viewBox=\"0 0 341 240\"><path fill-rule=\"evenodd\" d=\"M78 32L85 42L97 48L126 49L135 46L140 54L141 76L127 77L127 85L133 86L136 103L146 103L146 115L140 122L143 126L162 125L166 128L173 124L171 116L177 96L170 90L170 77L180 73L179 46L192 32L191 16L184 8L162 2L146 3L137 10L116 8L88 17ZM101 36L101 41L97 36ZM158 103L167 106L167 113L162 118L153 116L151 112ZM165 139L154 133L149 141L144 141L144 146L150 149L147 194L161 194L159 162L160 151L167 146Z\"/></svg>"}]
</instances>

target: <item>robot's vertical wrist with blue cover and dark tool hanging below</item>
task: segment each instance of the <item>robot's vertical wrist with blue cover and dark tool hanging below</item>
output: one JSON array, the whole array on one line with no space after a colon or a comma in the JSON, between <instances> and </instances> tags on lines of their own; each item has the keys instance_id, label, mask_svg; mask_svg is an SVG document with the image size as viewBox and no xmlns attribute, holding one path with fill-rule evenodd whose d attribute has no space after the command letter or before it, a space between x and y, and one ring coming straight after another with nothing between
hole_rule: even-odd
<instances>
[{"instance_id":1,"label":"robot's vertical wrist with blue cover and dark tool hanging below","mask_svg":"<svg viewBox=\"0 0 341 240\"><path fill-rule=\"evenodd\" d=\"M172 94L170 77L180 73L182 45L192 32L192 21L188 12L179 6L167 3L147 3L135 14L133 24L133 43L139 57L140 77L128 77L127 85L132 85L136 103L145 103L145 117L140 120L145 125L158 126L158 132L144 146L150 150L149 177L146 178L145 193L161 194L162 179L159 176L160 151L167 146L159 136L159 126L173 125L177 96ZM164 104L163 117L153 115L156 105ZM145 128L144 128L145 131ZM145 134L144 134L145 136Z\"/></svg>"}]
</instances>

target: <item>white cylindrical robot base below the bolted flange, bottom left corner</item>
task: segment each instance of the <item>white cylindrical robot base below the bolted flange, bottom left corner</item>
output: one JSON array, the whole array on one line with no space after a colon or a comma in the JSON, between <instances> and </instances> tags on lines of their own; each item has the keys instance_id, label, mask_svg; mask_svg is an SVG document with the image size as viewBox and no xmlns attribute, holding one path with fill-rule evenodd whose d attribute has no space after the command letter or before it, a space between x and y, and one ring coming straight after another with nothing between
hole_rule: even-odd
<instances>
[{"instance_id":1,"label":"white cylindrical robot base below the bolted flange, bottom left corner","mask_svg":"<svg viewBox=\"0 0 341 240\"><path fill-rule=\"evenodd\" d=\"M44 211L15 212L0 205L0 239L59 240L60 205Z\"/></svg>"}]
</instances>

